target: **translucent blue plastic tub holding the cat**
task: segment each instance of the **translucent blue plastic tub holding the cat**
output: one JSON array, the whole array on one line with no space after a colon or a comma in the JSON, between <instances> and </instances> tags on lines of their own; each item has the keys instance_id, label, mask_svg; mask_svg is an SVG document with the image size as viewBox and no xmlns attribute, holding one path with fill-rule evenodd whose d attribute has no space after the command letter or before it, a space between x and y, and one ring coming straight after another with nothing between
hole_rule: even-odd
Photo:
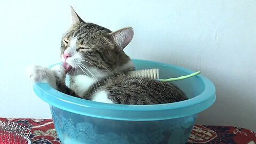
<instances>
[{"instance_id":1,"label":"translucent blue plastic tub holding the cat","mask_svg":"<svg viewBox=\"0 0 256 144\"><path fill-rule=\"evenodd\" d=\"M193 73L159 62L133 62L136 69L159 68L160 78ZM70 97L46 83L35 84L34 90L39 98L49 103L62 143L186 143L196 115L215 101L215 87L203 75L173 84L189 99L161 105L117 105Z\"/></svg>"}]
</instances>

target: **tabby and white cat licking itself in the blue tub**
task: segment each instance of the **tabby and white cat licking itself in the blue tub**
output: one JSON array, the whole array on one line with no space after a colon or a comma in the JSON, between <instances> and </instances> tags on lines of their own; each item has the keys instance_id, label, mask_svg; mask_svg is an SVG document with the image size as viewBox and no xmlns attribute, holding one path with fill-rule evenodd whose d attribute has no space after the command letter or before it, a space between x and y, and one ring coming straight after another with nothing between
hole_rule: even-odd
<instances>
[{"instance_id":1,"label":"tabby and white cat licking itself in the blue tub","mask_svg":"<svg viewBox=\"0 0 256 144\"><path fill-rule=\"evenodd\" d=\"M85 22L71 7L73 25L62 37L61 61L51 69L34 66L33 82L49 83L54 89L77 98L125 105L154 105L187 100L175 85L126 75L134 65L123 49L133 29L117 31ZM69 87L65 84L70 76Z\"/></svg>"}]
</instances>

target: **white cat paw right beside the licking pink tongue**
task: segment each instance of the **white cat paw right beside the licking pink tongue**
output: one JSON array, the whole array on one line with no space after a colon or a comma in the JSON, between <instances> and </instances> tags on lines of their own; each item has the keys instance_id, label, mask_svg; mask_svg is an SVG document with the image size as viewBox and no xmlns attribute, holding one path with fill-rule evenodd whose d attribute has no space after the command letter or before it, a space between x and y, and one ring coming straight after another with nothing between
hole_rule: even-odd
<instances>
[{"instance_id":1,"label":"white cat paw right beside the licking pink tongue","mask_svg":"<svg viewBox=\"0 0 256 144\"><path fill-rule=\"evenodd\" d=\"M55 76L56 81L65 82L65 79L66 79L65 68L63 68L61 65L53 66L51 69L51 72Z\"/></svg>"}]
</instances>

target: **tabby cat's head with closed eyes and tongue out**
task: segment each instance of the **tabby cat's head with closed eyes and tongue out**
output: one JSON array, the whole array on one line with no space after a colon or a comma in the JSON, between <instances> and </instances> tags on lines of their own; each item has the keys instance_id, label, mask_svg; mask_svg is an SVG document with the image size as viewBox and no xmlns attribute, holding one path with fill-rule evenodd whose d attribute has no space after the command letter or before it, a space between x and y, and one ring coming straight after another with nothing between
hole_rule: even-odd
<instances>
[{"instance_id":1,"label":"tabby cat's head with closed eyes and tongue out","mask_svg":"<svg viewBox=\"0 0 256 144\"><path fill-rule=\"evenodd\" d=\"M133 37L131 27L112 32L83 21L72 7L71 15L73 25L61 41L61 61L66 73L101 77L133 69L131 59L123 51Z\"/></svg>"}]
</instances>

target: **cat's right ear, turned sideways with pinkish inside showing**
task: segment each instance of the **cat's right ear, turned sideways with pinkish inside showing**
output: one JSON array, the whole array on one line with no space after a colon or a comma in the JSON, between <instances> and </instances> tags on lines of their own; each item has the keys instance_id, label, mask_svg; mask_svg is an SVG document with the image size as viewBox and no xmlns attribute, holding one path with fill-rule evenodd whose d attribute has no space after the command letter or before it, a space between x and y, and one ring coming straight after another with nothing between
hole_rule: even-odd
<instances>
[{"instance_id":1,"label":"cat's right ear, turned sideways with pinkish inside showing","mask_svg":"<svg viewBox=\"0 0 256 144\"><path fill-rule=\"evenodd\" d=\"M118 46L120 46L122 49L124 49L124 47L127 46L132 41L133 29L131 27L126 27L126 28L122 28L117 31L114 31L113 33L109 33L108 35L111 35L115 43Z\"/></svg>"}]
</instances>

